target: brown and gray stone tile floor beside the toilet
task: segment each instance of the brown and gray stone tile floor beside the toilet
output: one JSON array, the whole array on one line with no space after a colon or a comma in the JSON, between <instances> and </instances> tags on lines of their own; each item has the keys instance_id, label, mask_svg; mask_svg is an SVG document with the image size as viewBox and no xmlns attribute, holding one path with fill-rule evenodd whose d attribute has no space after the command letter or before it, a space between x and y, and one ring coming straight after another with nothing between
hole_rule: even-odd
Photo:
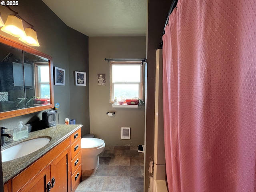
<instances>
[{"instance_id":1,"label":"brown and gray stone tile floor beside the toilet","mask_svg":"<svg viewBox=\"0 0 256 192\"><path fill-rule=\"evenodd\" d=\"M105 146L100 165L82 170L76 192L143 192L144 153L137 146Z\"/></svg>"}]
</instances>

